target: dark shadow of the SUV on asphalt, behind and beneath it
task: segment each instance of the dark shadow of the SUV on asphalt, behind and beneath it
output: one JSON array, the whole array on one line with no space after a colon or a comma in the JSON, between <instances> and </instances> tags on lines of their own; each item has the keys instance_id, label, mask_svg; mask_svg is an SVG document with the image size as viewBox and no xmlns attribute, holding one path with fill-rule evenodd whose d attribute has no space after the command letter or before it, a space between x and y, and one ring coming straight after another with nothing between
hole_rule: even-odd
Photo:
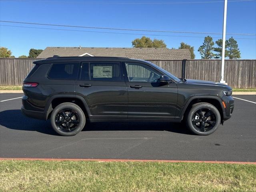
<instances>
[{"instance_id":1,"label":"dark shadow of the SUV on asphalt, behind and beneath it","mask_svg":"<svg viewBox=\"0 0 256 192\"><path fill-rule=\"evenodd\" d=\"M37 120L24 116L21 110L0 112L0 125L9 129L36 131L44 134L58 135L52 129L50 120ZM180 134L191 134L183 124L169 122L97 122L88 123L82 131L169 131Z\"/></svg>"}]
</instances>

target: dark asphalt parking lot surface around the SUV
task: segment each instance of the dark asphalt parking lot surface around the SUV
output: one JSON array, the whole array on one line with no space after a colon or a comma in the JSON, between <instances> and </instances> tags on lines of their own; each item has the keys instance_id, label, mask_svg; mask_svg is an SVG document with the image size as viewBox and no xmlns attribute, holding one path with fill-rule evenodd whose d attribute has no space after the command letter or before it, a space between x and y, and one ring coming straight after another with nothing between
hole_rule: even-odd
<instances>
[{"instance_id":1,"label":"dark asphalt parking lot surface around the SUV","mask_svg":"<svg viewBox=\"0 0 256 192\"><path fill-rule=\"evenodd\" d=\"M252 102L235 99L232 118L210 136L191 135L178 123L102 122L72 137L56 135L49 120L23 116L22 95L0 94L1 158L256 162L256 95L235 96Z\"/></svg>"}]
</instances>

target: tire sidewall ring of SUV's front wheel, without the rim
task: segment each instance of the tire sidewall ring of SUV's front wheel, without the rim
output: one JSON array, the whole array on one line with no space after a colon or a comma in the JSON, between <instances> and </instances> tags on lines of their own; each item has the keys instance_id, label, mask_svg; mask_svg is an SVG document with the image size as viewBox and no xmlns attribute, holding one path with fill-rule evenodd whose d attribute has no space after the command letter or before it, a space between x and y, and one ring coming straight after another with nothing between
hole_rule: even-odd
<instances>
[{"instance_id":1,"label":"tire sidewall ring of SUV's front wheel, without the rim","mask_svg":"<svg viewBox=\"0 0 256 192\"><path fill-rule=\"evenodd\" d=\"M192 124L192 118L194 113L199 110L200 108L208 108L210 110L212 110L215 114L216 114L216 125L214 126L214 128L212 128L212 130L208 131L208 132L200 132L198 130L196 130L196 128L194 128L193 124ZM220 112L218 111L218 109L216 107L214 107L211 104L198 104L195 107L192 107L190 112L188 113L187 116L187 126L188 128L197 135L210 135L213 132L215 132L218 129L218 126L220 125L220 121L221 121L221 117L220 117Z\"/></svg>"}]
</instances>

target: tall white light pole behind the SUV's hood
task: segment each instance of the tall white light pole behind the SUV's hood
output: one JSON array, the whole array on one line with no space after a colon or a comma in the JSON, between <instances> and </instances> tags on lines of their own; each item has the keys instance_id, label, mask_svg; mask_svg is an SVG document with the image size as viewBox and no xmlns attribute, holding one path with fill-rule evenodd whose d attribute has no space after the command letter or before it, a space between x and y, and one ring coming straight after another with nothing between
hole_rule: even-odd
<instances>
[{"instance_id":1,"label":"tall white light pole behind the SUV's hood","mask_svg":"<svg viewBox=\"0 0 256 192\"><path fill-rule=\"evenodd\" d=\"M220 83L226 83L224 81L224 65L225 65L227 4L228 4L228 0L224 0L224 16L223 16L223 32L222 32L222 57L221 57L221 80L220 80Z\"/></svg>"}]
</instances>

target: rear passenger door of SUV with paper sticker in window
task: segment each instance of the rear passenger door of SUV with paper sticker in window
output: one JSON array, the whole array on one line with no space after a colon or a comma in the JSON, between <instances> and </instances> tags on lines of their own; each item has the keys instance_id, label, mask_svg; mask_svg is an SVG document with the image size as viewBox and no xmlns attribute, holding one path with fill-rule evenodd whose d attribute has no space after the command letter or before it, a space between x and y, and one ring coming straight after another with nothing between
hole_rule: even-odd
<instances>
[{"instance_id":1,"label":"rear passenger door of SUV with paper sticker in window","mask_svg":"<svg viewBox=\"0 0 256 192\"><path fill-rule=\"evenodd\" d=\"M82 62L76 94L84 98L93 119L127 118L128 93L120 62Z\"/></svg>"}]
</instances>

